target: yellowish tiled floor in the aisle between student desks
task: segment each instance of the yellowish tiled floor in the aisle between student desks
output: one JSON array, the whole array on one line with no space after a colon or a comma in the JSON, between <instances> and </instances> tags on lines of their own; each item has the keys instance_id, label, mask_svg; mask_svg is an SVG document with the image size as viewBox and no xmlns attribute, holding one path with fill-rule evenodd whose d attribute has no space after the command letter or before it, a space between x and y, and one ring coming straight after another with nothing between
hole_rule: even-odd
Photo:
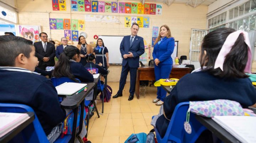
<instances>
[{"instance_id":1,"label":"yellowish tiled floor in the aisle between student desks","mask_svg":"<svg viewBox=\"0 0 256 143\"><path fill-rule=\"evenodd\" d=\"M119 82L108 82L116 95ZM89 122L87 139L92 143L124 143L132 133L148 133L153 126L150 125L153 115L158 114L159 106L152 103L156 98L156 87L146 87L145 98L133 98L128 101L130 82L126 83L123 97L111 98L104 103L104 113L97 118L94 116ZM135 95L134 95L135 96ZM102 102L97 101L97 108L101 113Z\"/></svg>"}]
</instances>

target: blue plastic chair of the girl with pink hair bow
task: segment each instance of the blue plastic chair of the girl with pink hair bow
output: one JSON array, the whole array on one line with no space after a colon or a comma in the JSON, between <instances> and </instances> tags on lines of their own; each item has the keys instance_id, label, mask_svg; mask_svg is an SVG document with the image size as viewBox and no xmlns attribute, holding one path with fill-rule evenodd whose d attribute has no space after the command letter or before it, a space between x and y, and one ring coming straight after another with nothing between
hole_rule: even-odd
<instances>
[{"instance_id":1,"label":"blue plastic chair of the girl with pink hair bow","mask_svg":"<svg viewBox=\"0 0 256 143\"><path fill-rule=\"evenodd\" d=\"M191 134L188 134L184 129L184 122L186 121L186 113L189 108L189 102L179 103L172 114L170 123L167 127L165 136L162 138L156 128L156 139L158 143L176 142L176 143L194 143L201 133L207 130L201 123L199 123L195 114L190 113L189 123L192 128Z\"/></svg>"}]
</instances>

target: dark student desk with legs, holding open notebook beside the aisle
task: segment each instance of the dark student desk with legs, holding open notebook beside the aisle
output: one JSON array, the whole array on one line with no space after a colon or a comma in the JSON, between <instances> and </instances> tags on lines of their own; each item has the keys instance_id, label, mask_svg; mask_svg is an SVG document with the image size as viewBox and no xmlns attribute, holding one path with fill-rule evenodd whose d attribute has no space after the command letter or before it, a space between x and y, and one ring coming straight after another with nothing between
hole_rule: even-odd
<instances>
[{"instance_id":1,"label":"dark student desk with legs, holding open notebook beside the aisle","mask_svg":"<svg viewBox=\"0 0 256 143\"><path fill-rule=\"evenodd\" d=\"M72 109L74 113L74 121L73 121L73 131L76 131L76 124L77 124L77 117L78 117L78 107L81 105L81 110L80 110L80 122L79 122L79 132L72 132L72 137L70 139L70 143L73 143L75 141L75 138L78 137L82 131L82 120L84 116L84 101L85 97L90 93L90 91L95 88L96 84L91 82L91 83L86 83L87 84L87 91L82 91L78 94L74 93L71 96L66 96L66 98L60 103L61 107L63 109ZM96 86L97 87L97 86Z\"/></svg>"}]
</instances>

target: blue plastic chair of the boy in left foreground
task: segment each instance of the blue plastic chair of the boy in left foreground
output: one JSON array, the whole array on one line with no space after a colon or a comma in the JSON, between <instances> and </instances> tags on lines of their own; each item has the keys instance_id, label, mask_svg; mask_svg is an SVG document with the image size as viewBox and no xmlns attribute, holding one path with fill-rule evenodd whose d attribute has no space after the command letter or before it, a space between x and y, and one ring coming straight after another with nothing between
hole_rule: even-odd
<instances>
[{"instance_id":1,"label":"blue plastic chair of the boy in left foreground","mask_svg":"<svg viewBox=\"0 0 256 143\"><path fill-rule=\"evenodd\" d=\"M24 112L33 112L34 110L24 104L10 104L10 103L0 103L0 112L10 112L10 113L24 113ZM14 142L25 142L25 143L49 143L46 134L37 118L37 115L34 113L34 121L32 124L28 125L18 133L12 141ZM55 143L67 143L69 142L71 135L65 135L63 138L59 137Z\"/></svg>"}]
</instances>

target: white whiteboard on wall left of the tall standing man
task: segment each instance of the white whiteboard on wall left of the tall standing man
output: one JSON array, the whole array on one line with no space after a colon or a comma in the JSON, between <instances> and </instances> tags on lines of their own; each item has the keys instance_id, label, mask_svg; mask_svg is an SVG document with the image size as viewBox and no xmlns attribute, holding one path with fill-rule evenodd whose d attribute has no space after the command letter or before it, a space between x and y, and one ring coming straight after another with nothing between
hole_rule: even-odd
<instances>
[{"instance_id":1,"label":"white whiteboard on wall left of the tall standing man","mask_svg":"<svg viewBox=\"0 0 256 143\"><path fill-rule=\"evenodd\" d=\"M124 36L105 36L99 35L104 42L104 46L108 49L108 63L122 64L122 56L120 52L120 44Z\"/></svg>"}]
</instances>

